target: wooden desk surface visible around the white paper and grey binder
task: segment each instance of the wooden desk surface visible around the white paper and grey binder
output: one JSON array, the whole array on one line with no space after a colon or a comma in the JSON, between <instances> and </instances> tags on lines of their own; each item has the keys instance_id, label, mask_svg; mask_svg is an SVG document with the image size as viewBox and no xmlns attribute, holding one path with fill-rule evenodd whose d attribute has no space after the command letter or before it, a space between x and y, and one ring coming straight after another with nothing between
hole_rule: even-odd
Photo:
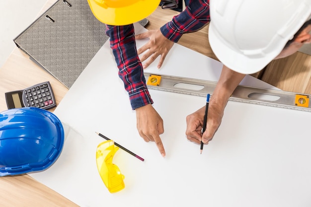
<instances>
[{"instance_id":1,"label":"wooden desk surface visible around the white paper and grey binder","mask_svg":"<svg viewBox=\"0 0 311 207\"><path fill-rule=\"evenodd\" d=\"M47 0L42 8L43 13L56 0ZM158 8L148 17L148 29L157 29L178 12ZM215 57L208 43L208 26L198 32L185 34L179 44L209 56ZM273 61L262 73L262 80L283 90L300 93L311 93L311 57L300 52L289 58ZM7 109L4 93L19 90L38 82L49 80L55 93L57 104L62 100L68 88L44 69L32 62L18 48L12 51L3 67L0 69L0 111ZM54 110L50 110L53 112ZM4 207L77 207L68 199L38 183L28 175L8 176L0 178L0 206Z\"/></svg>"}]
</instances>

